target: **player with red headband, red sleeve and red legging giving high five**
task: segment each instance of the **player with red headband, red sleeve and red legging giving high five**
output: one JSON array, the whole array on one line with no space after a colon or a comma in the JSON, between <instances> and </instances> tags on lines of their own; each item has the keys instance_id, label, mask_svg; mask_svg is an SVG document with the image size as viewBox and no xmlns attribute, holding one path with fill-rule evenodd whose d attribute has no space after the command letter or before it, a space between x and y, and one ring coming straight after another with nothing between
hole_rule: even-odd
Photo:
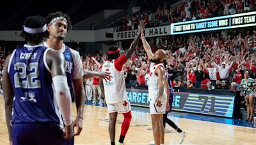
<instances>
[{"instance_id":1,"label":"player with red headband, red sleeve and red legging giving high five","mask_svg":"<svg viewBox=\"0 0 256 145\"><path fill-rule=\"evenodd\" d=\"M124 71L122 68L138 45L140 34L144 27L145 23L141 22L138 36L132 41L130 48L123 55L120 56L120 48L117 46L109 46L108 60L102 66L102 71L109 72L113 77L109 81L100 79L100 90L106 100L109 112L109 135L111 145L115 145L117 113L122 113L124 115L121 135L119 142L117 143L118 145L123 144L125 134L128 131L132 119L131 104L126 94Z\"/></svg>"}]
</instances>

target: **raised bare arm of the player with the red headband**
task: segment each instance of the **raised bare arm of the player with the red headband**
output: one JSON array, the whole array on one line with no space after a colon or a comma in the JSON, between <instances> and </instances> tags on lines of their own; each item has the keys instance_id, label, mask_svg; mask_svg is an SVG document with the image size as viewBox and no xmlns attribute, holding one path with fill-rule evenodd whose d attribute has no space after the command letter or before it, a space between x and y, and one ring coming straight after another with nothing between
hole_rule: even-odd
<instances>
[{"instance_id":1,"label":"raised bare arm of the player with the red headband","mask_svg":"<svg viewBox=\"0 0 256 145\"><path fill-rule=\"evenodd\" d=\"M140 35L141 35L141 31L145 28L145 22L141 22L140 24L140 29L139 29L139 34L134 38L134 40L131 43L131 46L129 47L129 49L125 52L125 56L128 59L129 57L131 57L132 52L135 50L136 46L139 44L140 42Z\"/></svg>"}]
</instances>

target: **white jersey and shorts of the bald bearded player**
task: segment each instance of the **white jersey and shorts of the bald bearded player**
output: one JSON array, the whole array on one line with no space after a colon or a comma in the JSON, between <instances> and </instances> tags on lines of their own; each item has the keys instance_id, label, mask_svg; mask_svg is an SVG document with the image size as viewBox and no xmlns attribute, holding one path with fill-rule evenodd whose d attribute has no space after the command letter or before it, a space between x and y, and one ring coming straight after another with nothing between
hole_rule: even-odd
<instances>
[{"instance_id":1,"label":"white jersey and shorts of the bald bearded player","mask_svg":"<svg viewBox=\"0 0 256 145\"><path fill-rule=\"evenodd\" d=\"M164 64L163 62L159 63L159 64L155 64L155 63L151 63L150 64L150 75L148 77L148 100L150 103L150 114L164 114L165 113L165 103L166 103L166 92L164 89L163 95L162 95L162 106L161 107L157 107L155 102L156 102L156 98L158 97L158 93L159 93L159 86L157 86L158 83L158 76L156 75L156 69L158 67L163 67L164 68ZM163 86L164 87L164 86Z\"/></svg>"}]
</instances>

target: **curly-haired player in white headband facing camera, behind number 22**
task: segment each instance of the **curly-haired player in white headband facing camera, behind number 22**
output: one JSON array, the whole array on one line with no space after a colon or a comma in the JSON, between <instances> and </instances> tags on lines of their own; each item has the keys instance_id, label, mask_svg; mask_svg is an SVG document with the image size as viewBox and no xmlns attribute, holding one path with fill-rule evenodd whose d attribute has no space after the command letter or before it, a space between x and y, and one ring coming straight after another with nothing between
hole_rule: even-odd
<instances>
[{"instance_id":1,"label":"curly-haired player in white headband facing camera, behind number 22","mask_svg":"<svg viewBox=\"0 0 256 145\"><path fill-rule=\"evenodd\" d=\"M77 117L74 121L74 127L77 127L77 131L74 135L79 135L83 129L82 120L85 102L83 79L93 76L108 78L109 75L106 72L83 72L83 65L79 52L72 50L63 43L63 39L65 39L67 32L72 28L70 17L68 17L68 15L58 11L55 13L49 13L49 15L45 17L45 21L47 23L47 31L50 36L47 38L44 45L63 53L65 56L65 72L67 74L68 86L70 87L70 92L74 93L77 108ZM72 140L73 141L70 141L70 144L74 144L74 139Z\"/></svg>"}]
</instances>

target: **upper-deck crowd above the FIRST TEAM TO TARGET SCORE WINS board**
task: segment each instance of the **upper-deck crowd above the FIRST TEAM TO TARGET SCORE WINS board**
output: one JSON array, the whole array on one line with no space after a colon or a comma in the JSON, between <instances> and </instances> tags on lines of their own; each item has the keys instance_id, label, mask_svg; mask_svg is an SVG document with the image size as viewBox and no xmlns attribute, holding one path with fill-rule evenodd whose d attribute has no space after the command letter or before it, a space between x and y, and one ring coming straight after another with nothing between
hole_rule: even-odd
<instances>
[{"instance_id":1,"label":"upper-deck crowd above the FIRST TEAM TO TARGET SCORE WINS board","mask_svg":"<svg viewBox=\"0 0 256 145\"><path fill-rule=\"evenodd\" d=\"M157 10L143 9L132 15L124 16L117 31L136 30L140 20L147 22L147 28L255 10L255 0L186 0L174 8L164 3L163 6L158 6Z\"/></svg>"}]
</instances>

